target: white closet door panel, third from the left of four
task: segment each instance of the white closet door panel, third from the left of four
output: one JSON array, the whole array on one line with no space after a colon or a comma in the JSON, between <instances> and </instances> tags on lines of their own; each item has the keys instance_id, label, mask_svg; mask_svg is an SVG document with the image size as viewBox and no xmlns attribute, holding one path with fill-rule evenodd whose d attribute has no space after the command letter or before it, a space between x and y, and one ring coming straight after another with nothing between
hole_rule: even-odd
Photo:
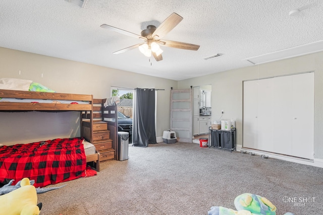
<instances>
[{"instance_id":1,"label":"white closet door panel, third from the left of four","mask_svg":"<svg viewBox=\"0 0 323 215\"><path fill-rule=\"evenodd\" d=\"M273 151L292 155L292 104L293 82L290 76L277 77L273 81Z\"/></svg>"}]
</instances>

